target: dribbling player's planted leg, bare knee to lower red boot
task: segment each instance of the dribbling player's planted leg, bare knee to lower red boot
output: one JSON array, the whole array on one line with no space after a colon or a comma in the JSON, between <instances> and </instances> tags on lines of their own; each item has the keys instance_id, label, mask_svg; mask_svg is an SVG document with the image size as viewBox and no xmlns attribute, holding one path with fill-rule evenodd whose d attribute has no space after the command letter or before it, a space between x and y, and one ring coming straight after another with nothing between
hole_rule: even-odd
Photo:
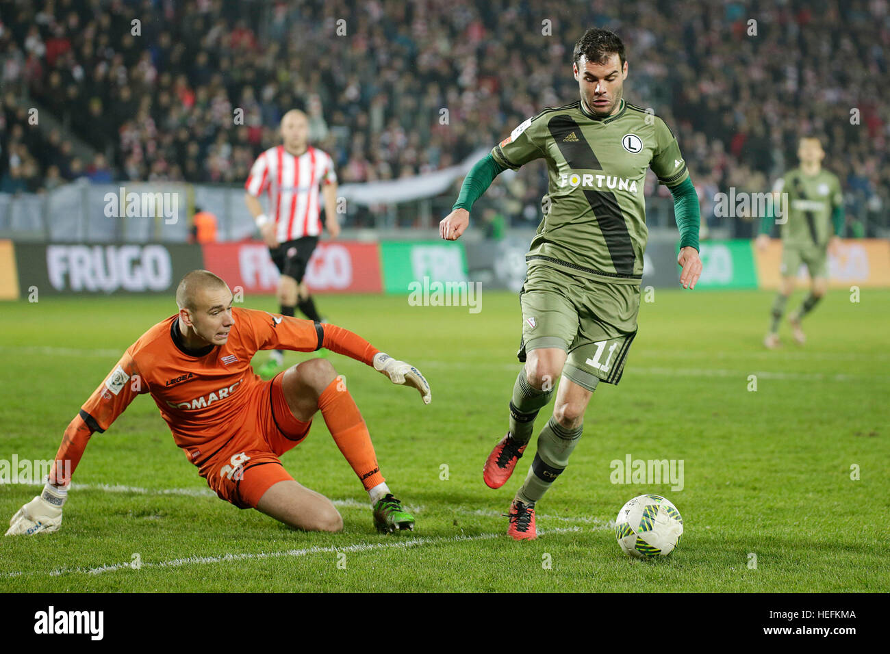
<instances>
[{"instance_id":1,"label":"dribbling player's planted leg, bare knee to lower red boot","mask_svg":"<svg viewBox=\"0 0 890 654\"><path fill-rule=\"evenodd\" d=\"M592 391L562 375L554 414L538 435L535 459L510 507L507 533L516 540L537 536L535 505L569 464L569 456L584 431L584 412L592 395Z\"/></svg>"}]
</instances>

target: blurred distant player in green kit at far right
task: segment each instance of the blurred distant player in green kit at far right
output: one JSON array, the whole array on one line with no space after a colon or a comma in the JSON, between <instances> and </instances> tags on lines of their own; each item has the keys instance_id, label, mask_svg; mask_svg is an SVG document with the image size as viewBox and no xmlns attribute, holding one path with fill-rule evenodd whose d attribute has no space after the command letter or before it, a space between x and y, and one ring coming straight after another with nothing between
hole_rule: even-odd
<instances>
[{"instance_id":1,"label":"blurred distant player in green kit at far right","mask_svg":"<svg viewBox=\"0 0 890 654\"><path fill-rule=\"evenodd\" d=\"M776 180L773 186L775 198L784 195L782 205L787 211L781 223L781 282L779 294L773 301L773 321L764 344L773 350L779 347L779 322L785 312L788 296L794 291L794 279L801 262L810 272L810 295L804 303L789 315L794 340L803 345L806 337L800 326L804 316L813 311L828 288L828 252L836 254L839 235L844 228L844 197L837 175L822 170L822 150L819 139L805 137L797 147L800 167L790 170ZM833 224L832 224L833 223ZM764 217L757 237L757 247L764 249L769 243L773 216Z\"/></svg>"}]
</instances>

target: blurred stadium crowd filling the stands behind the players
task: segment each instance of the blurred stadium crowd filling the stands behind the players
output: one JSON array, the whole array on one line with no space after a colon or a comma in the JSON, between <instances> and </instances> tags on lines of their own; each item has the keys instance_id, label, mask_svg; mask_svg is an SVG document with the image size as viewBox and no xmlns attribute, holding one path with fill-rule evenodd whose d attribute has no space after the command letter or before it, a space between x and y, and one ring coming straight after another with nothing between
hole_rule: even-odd
<instances>
[{"instance_id":1,"label":"blurred stadium crowd filling the stands behind the players","mask_svg":"<svg viewBox=\"0 0 890 654\"><path fill-rule=\"evenodd\" d=\"M677 134L704 216L719 190L768 190L802 133L824 138L848 211L890 206L887 0L0 0L0 191L243 183L292 107L344 182L450 166L577 99L590 26L623 38L625 97ZM100 154L35 130L29 98ZM486 201L537 221L543 170Z\"/></svg>"}]
</instances>

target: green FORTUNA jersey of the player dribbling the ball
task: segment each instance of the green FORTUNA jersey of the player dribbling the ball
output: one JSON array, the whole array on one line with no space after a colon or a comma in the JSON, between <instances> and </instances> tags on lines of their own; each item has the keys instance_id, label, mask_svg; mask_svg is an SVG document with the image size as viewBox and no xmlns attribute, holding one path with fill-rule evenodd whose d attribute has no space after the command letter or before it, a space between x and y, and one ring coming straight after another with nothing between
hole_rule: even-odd
<instances>
[{"instance_id":1,"label":"green FORTUNA jersey of the player dribbling the ball","mask_svg":"<svg viewBox=\"0 0 890 654\"><path fill-rule=\"evenodd\" d=\"M623 100L606 117L587 113L580 100L547 108L491 155L514 170L532 159L547 162L544 220L526 261L617 284L643 279L646 168L668 187L689 177L665 122Z\"/></svg>"}]
</instances>

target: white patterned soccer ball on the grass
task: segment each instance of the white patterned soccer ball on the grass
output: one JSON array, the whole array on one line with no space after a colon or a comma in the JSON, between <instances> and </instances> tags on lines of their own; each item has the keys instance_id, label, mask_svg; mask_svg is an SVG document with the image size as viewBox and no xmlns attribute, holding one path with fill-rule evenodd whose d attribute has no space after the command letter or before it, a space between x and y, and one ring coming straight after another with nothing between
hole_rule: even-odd
<instances>
[{"instance_id":1,"label":"white patterned soccer ball on the grass","mask_svg":"<svg viewBox=\"0 0 890 654\"><path fill-rule=\"evenodd\" d=\"M638 559L669 556L680 545L683 518L664 497L641 495L621 507L615 536L624 553Z\"/></svg>"}]
</instances>

